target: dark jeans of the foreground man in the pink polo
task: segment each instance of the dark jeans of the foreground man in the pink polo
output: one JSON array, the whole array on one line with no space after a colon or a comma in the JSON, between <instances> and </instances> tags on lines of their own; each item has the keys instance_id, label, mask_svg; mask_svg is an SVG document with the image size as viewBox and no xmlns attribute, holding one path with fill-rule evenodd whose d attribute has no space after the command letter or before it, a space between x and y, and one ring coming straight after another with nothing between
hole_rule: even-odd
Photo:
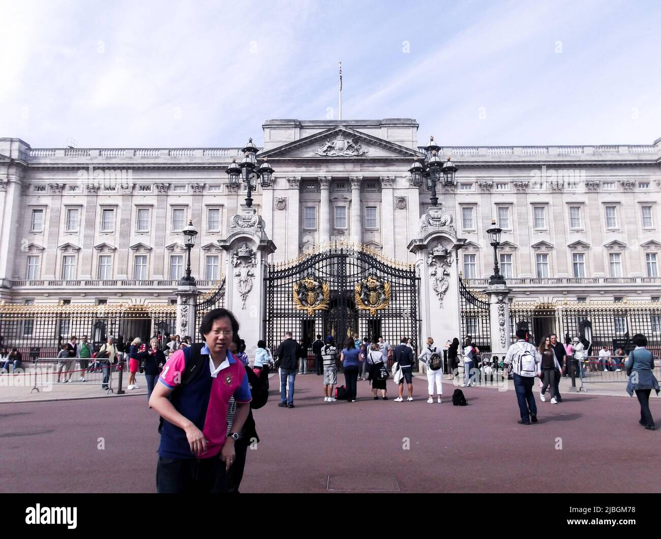
<instances>
[{"instance_id":1,"label":"dark jeans of the foreground man in the pink polo","mask_svg":"<svg viewBox=\"0 0 661 539\"><path fill-rule=\"evenodd\" d=\"M159 494L217 494L227 491L225 462L210 458L161 458L156 466Z\"/></svg>"}]
</instances>

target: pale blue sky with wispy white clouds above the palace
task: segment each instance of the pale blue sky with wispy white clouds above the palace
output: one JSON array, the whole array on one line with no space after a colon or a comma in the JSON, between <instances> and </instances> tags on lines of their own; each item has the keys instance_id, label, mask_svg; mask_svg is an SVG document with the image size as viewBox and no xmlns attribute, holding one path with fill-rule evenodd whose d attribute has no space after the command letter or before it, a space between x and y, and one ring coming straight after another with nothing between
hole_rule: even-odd
<instances>
[{"instance_id":1,"label":"pale blue sky with wispy white clouds above the palace","mask_svg":"<svg viewBox=\"0 0 661 539\"><path fill-rule=\"evenodd\" d=\"M440 145L652 144L658 1L0 0L0 137L237 147L274 118Z\"/></svg>"}]
</instances>

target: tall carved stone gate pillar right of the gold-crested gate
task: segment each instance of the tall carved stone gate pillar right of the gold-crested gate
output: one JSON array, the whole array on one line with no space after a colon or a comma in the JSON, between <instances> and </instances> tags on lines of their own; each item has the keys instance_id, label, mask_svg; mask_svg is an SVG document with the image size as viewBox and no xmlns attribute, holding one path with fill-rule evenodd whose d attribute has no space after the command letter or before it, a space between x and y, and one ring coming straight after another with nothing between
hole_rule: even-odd
<instances>
[{"instance_id":1,"label":"tall carved stone gate pillar right of the gold-crested gate","mask_svg":"<svg viewBox=\"0 0 661 539\"><path fill-rule=\"evenodd\" d=\"M420 343L432 337L442 347L447 339L461 338L457 251L465 242L450 214L437 207L422 216L417 237L408 243L420 276Z\"/></svg>"}]
</instances>

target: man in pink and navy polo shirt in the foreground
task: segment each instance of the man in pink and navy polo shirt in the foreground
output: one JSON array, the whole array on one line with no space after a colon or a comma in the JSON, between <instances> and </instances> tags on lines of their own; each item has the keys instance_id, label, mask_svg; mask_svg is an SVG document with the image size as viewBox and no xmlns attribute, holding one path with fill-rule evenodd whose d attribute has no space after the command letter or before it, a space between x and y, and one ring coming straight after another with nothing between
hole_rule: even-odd
<instances>
[{"instance_id":1,"label":"man in pink and navy polo shirt in the foreground","mask_svg":"<svg viewBox=\"0 0 661 539\"><path fill-rule=\"evenodd\" d=\"M176 351L163 367L149 399L163 417L156 471L159 493L225 491L225 476L235 458L234 442L252 399L245 367L227 350L238 331L239 323L230 311L212 310L200 324L205 343L187 352ZM197 372L186 372L192 365ZM232 396L237 412L227 435Z\"/></svg>"}]
</instances>

